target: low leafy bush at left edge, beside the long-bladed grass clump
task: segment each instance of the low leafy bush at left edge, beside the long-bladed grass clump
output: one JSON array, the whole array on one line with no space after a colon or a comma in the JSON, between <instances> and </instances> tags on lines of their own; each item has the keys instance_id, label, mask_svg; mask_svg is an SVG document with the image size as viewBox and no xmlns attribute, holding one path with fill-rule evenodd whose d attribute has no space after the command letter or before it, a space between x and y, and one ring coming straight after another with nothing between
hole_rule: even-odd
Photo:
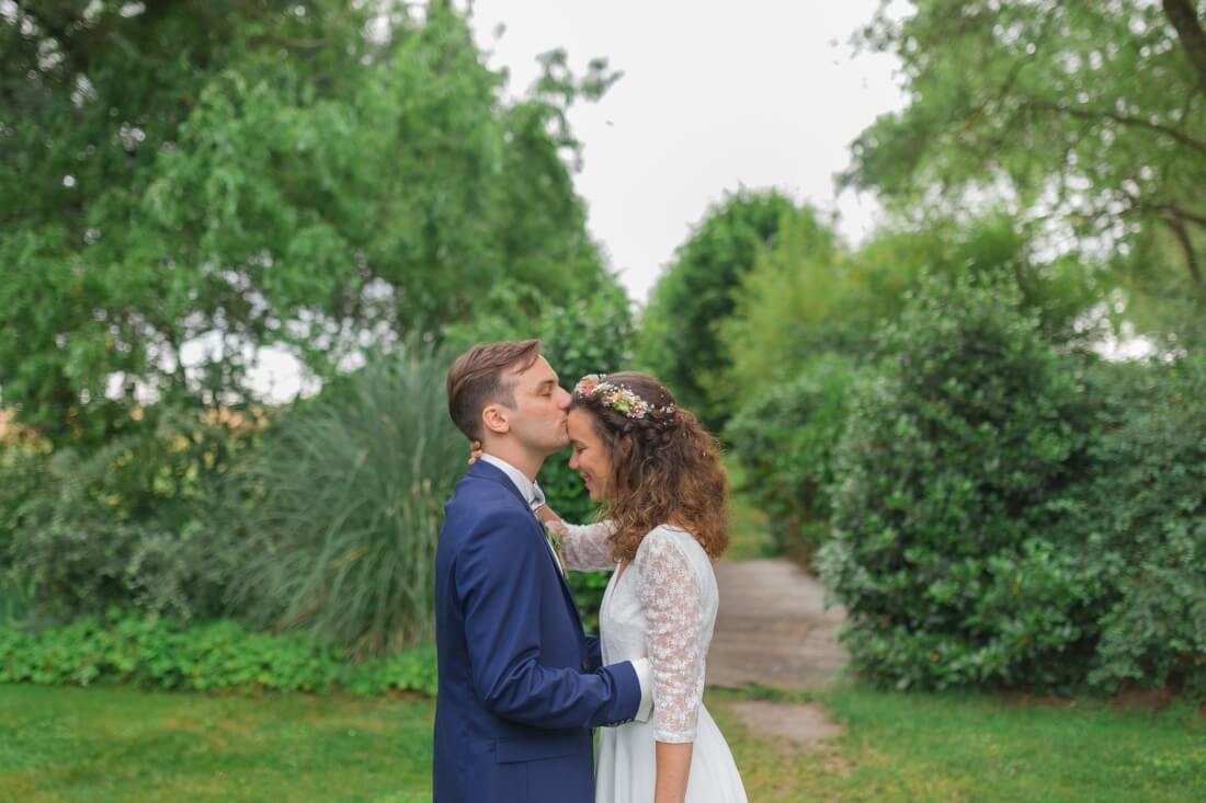
<instances>
[{"instance_id":1,"label":"low leafy bush at left edge, beside the long-bladed grass clump","mask_svg":"<svg viewBox=\"0 0 1206 803\"><path fill-rule=\"evenodd\" d=\"M250 416L168 408L90 453L5 450L0 483L12 493L0 500L0 547L7 541L11 582L51 621L107 605L216 615L230 553L212 515L258 430Z\"/></svg>"}]
</instances>

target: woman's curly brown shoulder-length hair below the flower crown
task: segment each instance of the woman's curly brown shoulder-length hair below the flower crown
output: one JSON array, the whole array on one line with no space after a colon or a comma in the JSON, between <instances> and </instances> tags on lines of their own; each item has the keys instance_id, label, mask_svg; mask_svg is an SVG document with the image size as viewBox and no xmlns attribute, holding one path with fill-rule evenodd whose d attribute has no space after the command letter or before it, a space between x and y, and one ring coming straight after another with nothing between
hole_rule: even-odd
<instances>
[{"instance_id":1,"label":"woman's curly brown shoulder-length hair below the flower crown","mask_svg":"<svg viewBox=\"0 0 1206 803\"><path fill-rule=\"evenodd\" d=\"M601 395L576 393L570 405L591 414L611 461L615 498L602 516L614 524L613 557L631 561L651 529L673 524L690 532L709 557L719 558L728 546L728 480L720 442L652 376L620 371L605 381L655 408L643 418L630 418Z\"/></svg>"}]
</instances>

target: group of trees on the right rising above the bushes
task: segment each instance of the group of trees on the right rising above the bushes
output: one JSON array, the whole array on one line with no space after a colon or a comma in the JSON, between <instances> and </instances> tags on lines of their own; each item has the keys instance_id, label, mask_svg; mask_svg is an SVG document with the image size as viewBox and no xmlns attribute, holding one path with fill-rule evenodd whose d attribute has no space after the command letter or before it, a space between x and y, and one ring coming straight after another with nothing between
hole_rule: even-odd
<instances>
[{"instance_id":1,"label":"group of trees on the right rising above the bushes","mask_svg":"<svg viewBox=\"0 0 1206 803\"><path fill-rule=\"evenodd\" d=\"M1099 317L1175 347L1206 301L1198 6L885 8L856 41L900 59L909 102L855 140L839 184L876 192L889 225L851 254L781 194L726 198L655 287L642 361L719 427L821 341L866 342L911 271L937 263L1014 271L1047 326L1083 327L1108 301Z\"/></svg>"}]
</instances>

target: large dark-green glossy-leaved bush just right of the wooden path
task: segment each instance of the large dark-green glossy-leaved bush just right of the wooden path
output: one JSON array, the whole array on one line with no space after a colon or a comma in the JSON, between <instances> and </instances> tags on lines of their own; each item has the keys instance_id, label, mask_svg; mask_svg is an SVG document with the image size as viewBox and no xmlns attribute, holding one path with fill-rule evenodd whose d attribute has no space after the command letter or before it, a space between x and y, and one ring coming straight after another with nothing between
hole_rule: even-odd
<instances>
[{"instance_id":1,"label":"large dark-green glossy-leaved bush just right of the wooden path","mask_svg":"<svg viewBox=\"0 0 1206 803\"><path fill-rule=\"evenodd\" d=\"M1076 526L1077 362L1009 283L927 280L882 340L819 557L854 666L900 687L1082 682L1114 568Z\"/></svg>"}]
</instances>

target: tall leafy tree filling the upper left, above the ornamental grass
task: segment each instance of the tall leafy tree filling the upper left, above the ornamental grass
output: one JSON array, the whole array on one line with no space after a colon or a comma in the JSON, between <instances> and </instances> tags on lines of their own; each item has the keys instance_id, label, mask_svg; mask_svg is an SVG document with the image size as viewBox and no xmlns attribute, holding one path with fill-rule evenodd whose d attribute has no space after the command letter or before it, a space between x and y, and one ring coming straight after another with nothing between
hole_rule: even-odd
<instances>
[{"instance_id":1,"label":"tall leafy tree filling the upper left, above the ornamental grass","mask_svg":"<svg viewBox=\"0 0 1206 803\"><path fill-rule=\"evenodd\" d=\"M509 105L450 4L411 5L8 4L2 404L99 442L140 398L247 399L262 346L329 376L503 277L609 282L560 124L605 65Z\"/></svg>"}]
</instances>

